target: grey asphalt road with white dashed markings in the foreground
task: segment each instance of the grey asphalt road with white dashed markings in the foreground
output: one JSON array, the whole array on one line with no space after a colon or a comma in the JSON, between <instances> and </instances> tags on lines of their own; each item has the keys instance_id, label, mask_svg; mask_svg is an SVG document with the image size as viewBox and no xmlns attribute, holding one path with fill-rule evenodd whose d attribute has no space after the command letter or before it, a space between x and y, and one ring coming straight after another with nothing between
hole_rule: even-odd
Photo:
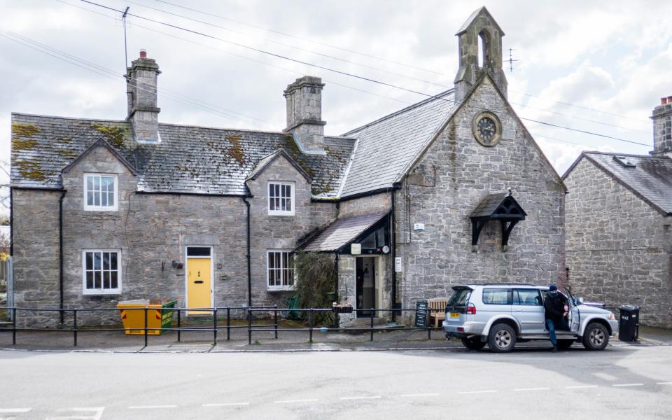
<instances>
[{"instance_id":1,"label":"grey asphalt road with white dashed markings in the foreground","mask_svg":"<svg viewBox=\"0 0 672 420\"><path fill-rule=\"evenodd\" d=\"M0 419L672 419L672 346L0 352Z\"/></svg>"}]
</instances>

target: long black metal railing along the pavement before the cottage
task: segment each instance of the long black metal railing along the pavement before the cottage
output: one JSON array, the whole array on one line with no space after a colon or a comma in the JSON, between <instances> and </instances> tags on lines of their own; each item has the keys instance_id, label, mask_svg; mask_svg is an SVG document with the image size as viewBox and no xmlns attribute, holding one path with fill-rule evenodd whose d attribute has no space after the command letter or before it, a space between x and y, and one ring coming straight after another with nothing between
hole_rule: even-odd
<instances>
[{"instance_id":1,"label":"long black metal railing along the pavement before the cottage","mask_svg":"<svg viewBox=\"0 0 672 420\"><path fill-rule=\"evenodd\" d=\"M392 313L395 312L395 314L403 314L404 312L414 312L415 315L417 311L427 311L427 316L426 319L427 321L430 321L430 313L432 312L442 312L442 311L435 311L431 309L418 309L418 308L409 308L409 309L403 309L403 308L395 308L395 309L380 309L380 308L370 308L370 309L353 309L352 313L353 314L365 314L368 312L368 316L365 318L369 318L370 322L366 327L364 326L355 326L355 327L339 327L338 323L336 322L334 326L327 327L325 325L315 325L314 323L314 317L315 314L321 313L321 312L332 312L332 309L329 308L292 308L292 309L287 309L287 308L279 308L277 305L273 306L258 306L258 307L212 307L212 308L170 308L170 307L136 307L136 308L123 308L123 309L118 309L118 308L69 308L69 309L60 309L60 308L29 308L29 307L12 307L6 309L7 311L10 311L12 314L12 325L11 326L5 326L5 327L0 327L0 332L11 332L12 333L12 344L16 344L16 333L18 331L46 331L46 332L64 332L64 333L71 333L73 337L73 346L77 346L77 337L79 333L82 332L110 332L110 331L124 331L124 332L139 332L139 334L144 335L144 346L148 345L148 337L149 335L160 335L163 332L169 332L169 331L175 331L177 332L177 341L180 342L182 339L182 332L211 332L213 335L213 344L217 344L217 339L218 339L218 332L220 330L226 330L226 340L229 341L231 339L231 330L236 329L236 328L246 328L247 332L247 338L248 338L248 344L252 344L252 337L253 333L255 332L274 332L274 337L277 339L279 337L279 332L307 332L308 334L308 339L309 342L313 342L313 334L314 330L318 329L320 332L368 332L370 335L370 341L373 341L374 339L374 332L378 331L426 331L427 332L427 339L432 338L432 330L437 330L437 328L433 328L431 325L426 325L424 327L416 327L416 326L406 326L406 325L386 325L386 326L376 326L375 321L377 319L377 314L384 314L386 312ZM142 326L140 327L123 327L123 328L90 328L85 325L79 325L78 319L80 318L81 314L83 313L90 313L90 312L106 312L106 311L143 311L143 323ZM66 319L71 319L71 325L64 325L63 328L43 328L43 327L31 327L31 326L19 326L18 325L18 317L17 314L20 313L21 311L24 312L57 312L57 313L64 313L64 314L71 314L71 318L66 317ZM161 326L153 326L150 325L148 320L149 320L149 314L151 311L156 311L159 313L160 316L162 316L163 311L172 311L173 313L177 313L176 315L176 321L172 321L169 327L165 327L163 325ZM183 317L182 314L183 312L209 312L210 315L212 316L212 324L211 325L204 325L204 326L195 326L195 325L186 325L183 326ZM243 312L245 318L246 318L246 324L245 325L232 325L231 321L232 320L241 320L243 318L241 317L235 317L232 316L235 315L235 312ZM299 314L307 313L307 326L302 327L302 328L286 328L286 327L281 327L279 318L281 318L282 313L288 313L288 312L295 312ZM258 318L261 320L266 320L270 318L272 320L272 323L253 323L253 318L255 314L258 313L265 313L269 315L268 317L265 318ZM223 316L223 314L226 314ZM272 316L271 316L272 315ZM337 317L338 314L335 313L335 316ZM416 318L417 316L415 316ZM225 325L221 325L219 323L219 320L221 318L224 318L225 320ZM361 316L356 316L356 319L362 319L363 317ZM28 319L29 320L29 319ZM176 325L174 325L176 324ZM68 328L69 327L69 328ZM440 328L438 328L440 329Z\"/></svg>"}]
</instances>

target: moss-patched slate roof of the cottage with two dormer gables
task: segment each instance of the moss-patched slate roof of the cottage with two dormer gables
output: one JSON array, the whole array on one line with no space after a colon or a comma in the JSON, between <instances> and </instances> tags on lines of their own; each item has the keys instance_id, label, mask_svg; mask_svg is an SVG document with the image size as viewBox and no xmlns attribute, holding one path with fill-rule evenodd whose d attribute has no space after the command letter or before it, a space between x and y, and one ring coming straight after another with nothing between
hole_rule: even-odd
<instances>
[{"instance_id":1,"label":"moss-patched slate roof of the cottage with two dormer gables","mask_svg":"<svg viewBox=\"0 0 672 420\"><path fill-rule=\"evenodd\" d=\"M317 198L336 197L355 141L325 137L325 155L306 155L282 132L160 124L160 144L137 144L130 123L12 114L11 185L61 188L60 174L104 139L138 171L145 192L244 195L255 165L282 148L313 180Z\"/></svg>"}]
</instances>

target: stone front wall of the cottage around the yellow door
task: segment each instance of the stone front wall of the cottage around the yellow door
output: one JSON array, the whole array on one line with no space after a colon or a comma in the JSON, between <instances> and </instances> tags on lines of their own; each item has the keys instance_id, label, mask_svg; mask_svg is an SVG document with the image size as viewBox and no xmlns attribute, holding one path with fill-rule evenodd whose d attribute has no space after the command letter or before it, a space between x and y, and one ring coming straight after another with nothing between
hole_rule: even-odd
<instances>
[{"instance_id":1,"label":"stone front wall of the cottage around the yellow door","mask_svg":"<svg viewBox=\"0 0 672 420\"><path fill-rule=\"evenodd\" d=\"M85 172L118 175L117 211L84 210ZM295 182L295 216L268 216L269 179ZM212 247L215 306L246 306L246 205L241 197L137 193L136 177L104 147L95 148L64 173L63 186L66 307L113 308L120 300L173 297L185 306L187 246ZM295 248L301 237L335 217L335 204L311 203L309 184L284 158L249 186L252 304L275 304L289 293L267 291L267 249ZM14 194L17 305L57 307L60 193L15 190ZM120 295L83 293L83 250L95 248L121 251ZM183 267L174 268L173 261ZM45 326L55 326L54 314ZM43 321L29 318L35 324ZM65 321L71 323L71 314ZM99 324L119 318L115 311L99 311L79 314L78 321Z\"/></svg>"}]
</instances>

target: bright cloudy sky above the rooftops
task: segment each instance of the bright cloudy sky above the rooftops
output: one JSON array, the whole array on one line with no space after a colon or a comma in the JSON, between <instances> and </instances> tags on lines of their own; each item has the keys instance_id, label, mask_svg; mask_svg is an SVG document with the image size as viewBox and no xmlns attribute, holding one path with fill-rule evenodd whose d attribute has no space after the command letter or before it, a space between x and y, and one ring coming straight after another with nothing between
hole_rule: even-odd
<instances>
[{"instance_id":1,"label":"bright cloudy sky above the rooftops","mask_svg":"<svg viewBox=\"0 0 672 420\"><path fill-rule=\"evenodd\" d=\"M342 134L423 97L251 48L435 94L452 87L456 30L483 5L506 33L504 58L512 48L519 60L506 73L519 116L646 145L526 122L560 174L582 150L650 151L648 116L672 95L666 1L95 1L137 15L128 56L144 48L160 64L164 123L281 130L282 91L309 74L326 83L326 133ZM13 111L125 118L120 13L79 0L0 4L4 169Z\"/></svg>"}]
</instances>

